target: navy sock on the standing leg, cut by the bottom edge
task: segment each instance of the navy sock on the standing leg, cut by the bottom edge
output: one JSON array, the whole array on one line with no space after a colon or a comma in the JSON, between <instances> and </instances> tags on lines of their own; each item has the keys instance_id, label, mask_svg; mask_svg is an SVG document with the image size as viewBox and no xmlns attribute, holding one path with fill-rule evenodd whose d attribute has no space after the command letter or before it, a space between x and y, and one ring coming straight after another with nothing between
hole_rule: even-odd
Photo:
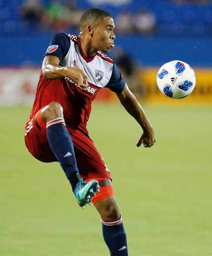
<instances>
[{"instance_id":1,"label":"navy sock on the standing leg, cut by the bottom edge","mask_svg":"<svg viewBox=\"0 0 212 256\"><path fill-rule=\"evenodd\" d=\"M110 251L110 256L128 256L127 237L122 217L117 221L103 222L103 237ZM118 224L118 225L117 225Z\"/></svg>"}]
</instances>

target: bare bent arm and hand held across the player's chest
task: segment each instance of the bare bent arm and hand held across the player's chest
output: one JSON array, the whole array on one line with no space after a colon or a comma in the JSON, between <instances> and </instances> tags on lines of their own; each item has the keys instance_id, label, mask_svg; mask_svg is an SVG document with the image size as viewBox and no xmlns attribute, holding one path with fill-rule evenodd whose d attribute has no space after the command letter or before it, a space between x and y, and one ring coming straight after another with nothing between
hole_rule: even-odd
<instances>
[{"instance_id":1,"label":"bare bent arm and hand held across the player's chest","mask_svg":"<svg viewBox=\"0 0 212 256\"><path fill-rule=\"evenodd\" d=\"M42 63L42 74L46 79L71 79L75 84L79 85L81 89L88 87L87 76L78 67L62 67L59 65L60 59L57 56L45 56Z\"/></svg>"}]
</instances>

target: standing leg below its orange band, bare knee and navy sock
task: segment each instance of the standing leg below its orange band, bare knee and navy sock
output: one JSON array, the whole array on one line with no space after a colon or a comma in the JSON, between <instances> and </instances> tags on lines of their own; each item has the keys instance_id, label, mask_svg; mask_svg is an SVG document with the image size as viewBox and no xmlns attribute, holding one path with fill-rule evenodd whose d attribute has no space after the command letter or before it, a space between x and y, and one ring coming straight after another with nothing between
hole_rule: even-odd
<instances>
[{"instance_id":1,"label":"standing leg below its orange band, bare knee and navy sock","mask_svg":"<svg viewBox=\"0 0 212 256\"><path fill-rule=\"evenodd\" d=\"M128 256L127 237L115 197L100 200L95 203L95 207L101 215L103 237L110 256Z\"/></svg>"}]
</instances>

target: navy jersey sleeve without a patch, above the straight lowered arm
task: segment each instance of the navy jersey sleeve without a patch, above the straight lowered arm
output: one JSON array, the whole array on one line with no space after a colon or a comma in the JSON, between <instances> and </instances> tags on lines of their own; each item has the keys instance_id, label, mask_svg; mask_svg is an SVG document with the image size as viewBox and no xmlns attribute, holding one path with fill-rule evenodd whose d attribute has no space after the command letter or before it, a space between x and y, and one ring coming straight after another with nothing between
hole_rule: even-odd
<instances>
[{"instance_id":1,"label":"navy jersey sleeve without a patch, above the straight lowered arm","mask_svg":"<svg viewBox=\"0 0 212 256\"><path fill-rule=\"evenodd\" d=\"M115 93L121 93L125 88L125 80L115 63L113 63L112 75L106 87Z\"/></svg>"}]
</instances>

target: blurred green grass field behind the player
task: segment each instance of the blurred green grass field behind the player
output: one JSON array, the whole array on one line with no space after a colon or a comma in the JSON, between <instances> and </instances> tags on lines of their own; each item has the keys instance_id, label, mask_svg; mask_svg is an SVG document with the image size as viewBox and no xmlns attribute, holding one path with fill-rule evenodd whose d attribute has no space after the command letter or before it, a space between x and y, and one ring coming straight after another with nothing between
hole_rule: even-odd
<instances>
[{"instance_id":1,"label":"blurred green grass field behind the player","mask_svg":"<svg viewBox=\"0 0 212 256\"><path fill-rule=\"evenodd\" d=\"M129 256L212 255L212 106L144 106L156 144L122 106L96 104L90 136L111 170ZM108 256L93 206L81 209L58 163L24 145L29 107L1 107L0 256Z\"/></svg>"}]
</instances>

